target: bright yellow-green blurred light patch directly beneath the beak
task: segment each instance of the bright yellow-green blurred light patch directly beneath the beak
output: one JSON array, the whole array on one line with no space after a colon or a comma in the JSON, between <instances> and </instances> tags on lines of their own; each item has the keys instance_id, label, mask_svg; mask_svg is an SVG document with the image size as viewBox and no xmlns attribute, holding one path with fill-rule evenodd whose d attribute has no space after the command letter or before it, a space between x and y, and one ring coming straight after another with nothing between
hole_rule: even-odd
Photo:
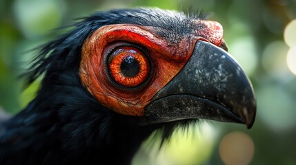
<instances>
[{"instance_id":1,"label":"bright yellow-green blurred light patch directly beneath the beak","mask_svg":"<svg viewBox=\"0 0 296 165\"><path fill-rule=\"evenodd\" d=\"M170 159L172 165L205 164L213 153L217 134L208 123L200 123L195 129L177 129L161 154Z\"/></svg>"}]
</instances>

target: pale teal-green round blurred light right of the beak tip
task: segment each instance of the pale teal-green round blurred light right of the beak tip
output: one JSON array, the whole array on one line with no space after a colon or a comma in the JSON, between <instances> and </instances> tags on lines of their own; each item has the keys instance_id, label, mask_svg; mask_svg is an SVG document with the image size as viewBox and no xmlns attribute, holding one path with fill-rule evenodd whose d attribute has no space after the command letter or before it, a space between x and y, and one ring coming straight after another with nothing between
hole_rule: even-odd
<instances>
[{"instance_id":1,"label":"pale teal-green round blurred light right of the beak tip","mask_svg":"<svg viewBox=\"0 0 296 165\"><path fill-rule=\"evenodd\" d=\"M277 84L264 85L257 89L258 117L276 132L293 129L296 120L295 98Z\"/></svg>"}]
</instances>

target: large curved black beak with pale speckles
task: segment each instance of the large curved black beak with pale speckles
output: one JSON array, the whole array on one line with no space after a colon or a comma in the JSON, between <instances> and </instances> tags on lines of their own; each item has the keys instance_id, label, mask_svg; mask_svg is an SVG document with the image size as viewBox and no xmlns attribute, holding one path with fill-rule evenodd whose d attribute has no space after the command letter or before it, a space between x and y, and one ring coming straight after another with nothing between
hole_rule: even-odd
<instances>
[{"instance_id":1,"label":"large curved black beak with pale speckles","mask_svg":"<svg viewBox=\"0 0 296 165\"><path fill-rule=\"evenodd\" d=\"M181 71L146 106L150 123L208 119L253 125L256 101L250 80L233 57L198 41Z\"/></svg>"}]
</instances>

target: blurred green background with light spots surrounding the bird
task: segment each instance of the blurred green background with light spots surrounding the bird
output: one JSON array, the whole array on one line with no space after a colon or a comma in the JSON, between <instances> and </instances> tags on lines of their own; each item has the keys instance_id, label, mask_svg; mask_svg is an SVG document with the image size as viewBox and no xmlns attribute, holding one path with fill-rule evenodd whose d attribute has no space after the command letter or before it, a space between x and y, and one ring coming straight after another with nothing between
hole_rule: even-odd
<instances>
[{"instance_id":1,"label":"blurred green background with light spots surrounding the bird","mask_svg":"<svg viewBox=\"0 0 296 165\"><path fill-rule=\"evenodd\" d=\"M230 54L244 68L257 97L252 129L211 122L178 130L158 151L147 140L132 164L296 164L296 1L293 0L1 0L0 109L17 113L34 97L18 79L31 50L97 10L138 6L179 10L192 5L224 26ZM23 91L23 92L22 92ZM116 151L115 151L116 152Z\"/></svg>"}]
</instances>

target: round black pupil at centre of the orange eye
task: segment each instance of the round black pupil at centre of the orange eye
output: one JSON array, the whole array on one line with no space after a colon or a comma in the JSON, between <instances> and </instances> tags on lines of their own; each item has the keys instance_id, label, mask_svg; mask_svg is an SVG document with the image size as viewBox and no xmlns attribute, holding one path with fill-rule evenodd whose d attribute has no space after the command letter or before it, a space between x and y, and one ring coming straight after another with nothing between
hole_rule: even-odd
<instances>
[{"instance_id":1,"label":"round black pupil at centre of the orange eye","mask_svg":"<svg viewBox=\"0 0 296 165\"><path fill-rule=\"evenodd\" d=\"M135 77L139 73L139 63L132 56L127 56L121 63L121 73L126 77Z\"/></svg>"}]
</instances>

